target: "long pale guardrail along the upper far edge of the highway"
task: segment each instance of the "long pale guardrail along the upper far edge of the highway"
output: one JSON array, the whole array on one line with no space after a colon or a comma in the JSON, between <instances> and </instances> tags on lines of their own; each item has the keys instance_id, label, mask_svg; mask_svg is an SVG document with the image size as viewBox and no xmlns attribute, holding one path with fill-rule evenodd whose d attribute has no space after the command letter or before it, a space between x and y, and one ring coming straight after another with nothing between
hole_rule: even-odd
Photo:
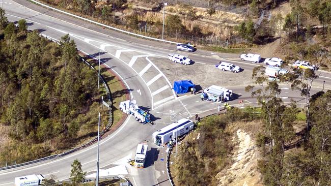
<instances>
[{"instance_id":1,"label":"long pale guardrail along the upper far edge of the highway","mask_svg":"<svg viewBox=\"0 0 331 186\"><path fill-rule=\"evenodd\" d=\"M68 12L65 12L63 10L56 9L56 8L50 7L48 5L44 5L44 4L42 4L40 2L37 2L35 0L29 0L29 1L31 1L31 2L33 2L35 4L37 4L37 5L40 5L42 7L45 7L47 9L51 9L51 10L54 10L54 11L57 11L57 12L60 12L60 13L63 13L63 14L66 14L66 15L69 15L69 16L72 16L72 17L75 17L75 18L84 20L84 21L87 21L87 22L90 22L90 23L93 23L93 24L97 24L97 25L100 25L100 26L103 26L103 27L106 27L106 28L109 28L109 29L113 29L113 30L116 30L117 32L125 33L125 34L128 34L128 35L133 35L133 36L141 37L141 38L145 38L145 39L155 40L155 41L161 41L161 42L172 43L172 44L180 44L180 43L173 42L173 41L162 40L162 39L152 38L152 37L148 37L148 36L144 36L144 35L140 35L140 34L130 33L128 31L126 31L126 30L122 30L122 29L119 29L119 28L108 26L106 24L102 24L102 23L99 23L99 22L96 22L96 21L92 21L90 19L87 19L87 18L84 18L84 17L80 17L80 16L77 16L77 15L74 15L74 14L71 14L71 13L68 13Z\"/></svg>"}]
</instances>

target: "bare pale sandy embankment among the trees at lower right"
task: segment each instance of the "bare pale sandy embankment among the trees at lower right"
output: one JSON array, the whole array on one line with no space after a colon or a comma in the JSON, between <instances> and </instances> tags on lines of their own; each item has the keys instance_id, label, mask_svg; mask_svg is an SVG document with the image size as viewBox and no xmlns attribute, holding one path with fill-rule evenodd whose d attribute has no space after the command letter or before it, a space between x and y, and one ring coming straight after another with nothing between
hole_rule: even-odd
<instances>
[{"instance_id":1,"label":"bare pale sandy embankment among the trees at lower right","mask_svg":"<svg viewBox=\"0 0 331 186\"><path fill-rule=\"evenodd\" d=\"M258 148L249 134L237 130L233 140L238 140L237 152L234 153L234 163L229 169L216 175L219 186L223 185L263 185L261 174L257 170L257 160L260 157Z\"/></svg>"}]
</instances>

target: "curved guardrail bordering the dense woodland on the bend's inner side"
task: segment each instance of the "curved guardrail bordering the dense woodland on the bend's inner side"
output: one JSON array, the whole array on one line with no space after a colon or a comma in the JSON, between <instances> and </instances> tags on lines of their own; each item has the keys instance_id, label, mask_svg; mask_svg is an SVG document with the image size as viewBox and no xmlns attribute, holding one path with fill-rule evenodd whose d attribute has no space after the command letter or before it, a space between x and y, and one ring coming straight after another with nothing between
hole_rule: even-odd
<instances>
[{"instance_id":1,"label":"curved guardrail bordering the dense woodland on the bend's inner side","mask_svg":"<svg viewBox=\"0 0 331 186\"><path fill-rule=\"evenodd\" d=\"M29 32L31 32L32 30L29 30ZM56 42L57 44L60 45L59 41L56 40L56 39L53 39L53 38L50 38L50 37L47 37L46 35L43 35L43 34L40 34L42 37L52 41L52 42ZM96 70L91 64L88 63L88 61L86 61L85 59L81 58L82 61L84 61L90 68ZM106 83L105 79L103 78L103 76L100 74L100 79L102 80L103 82L103 85L107 91L107 97L108 97L108 103L111 103L111 105L113 105L113 100L112 100L112 96L111 96L111 89L108 87L108 84ZM110 114L110 118L108 120L108 123L107 123L107 126L105 127L104 130L102 130L102 132L100 133L100 138L102 138L102 136L106 133L106 131L112 127L113 125L113 112L112 112L112 107L109 107L109 114ZM44 158L41 158L41 159L38 159L38 160L33 160L33 161L30 161L30 162L25 162L25 163L21 163L21 164L16 164L16 165L11 165L11 166L6 166L6 167L1 167L0 168L0 171L1 170L6 170L6 169L11 169L11 168L16 168L16 167L21 167L21 166L24 166L24 165L29 165L29 164L33 164L33 163L38 163L38 162L42 162L42 161L45 161L45 160L52 160L52 159L58 159L58 158L61 158L69 153L72 153L72 152L75 152L77 150L80 150L82 148L85 148L87 146L90 146L91 144L95 143L96 141L98 140L98 137L95 137L94 139L92 139L91 141L89 141L88 143L84 144L84 145L81 145L77 148L74 148L72 150L69 150L67 152L64 152L64 153L61 153L61 154L54 154L54 155L51 155L51 156L48 156L48 157L44 157Z\"/></svg>"}]
</instances>

